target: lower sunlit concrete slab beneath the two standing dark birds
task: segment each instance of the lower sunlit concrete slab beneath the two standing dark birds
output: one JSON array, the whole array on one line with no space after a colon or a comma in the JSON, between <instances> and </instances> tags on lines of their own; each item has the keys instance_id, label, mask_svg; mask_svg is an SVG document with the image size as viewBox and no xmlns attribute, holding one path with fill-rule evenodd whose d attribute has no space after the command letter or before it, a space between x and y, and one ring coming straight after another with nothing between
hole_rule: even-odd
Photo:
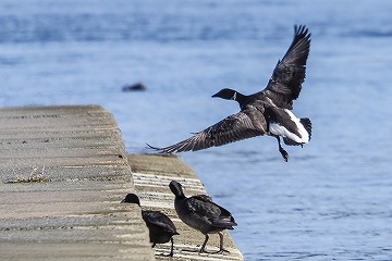
<instances>
[{"instance_id":1,"label":"lower sunlit concrete slab beneath the two standing dark birds","mask_svg":"<svg viewBox=\"0 0 392 261\"><path fill-rule=\"evenodd\" d=\"M134 154L128 156L134 184L140 197L143 209L159 210L174 222L180 235L174 236L174 260L244 260L230 235L224 232L224 248L230 253L198 253L205 236L185 225L175 213L174 195L169 189L173 179L183 185L186 196L207 194L194 171L176 157ZM211 235L207 250L219 249L219 236ZM156 246L156 259L167 260L159 256L169 253L170 243Z\"/></svg>"}]
</instances>

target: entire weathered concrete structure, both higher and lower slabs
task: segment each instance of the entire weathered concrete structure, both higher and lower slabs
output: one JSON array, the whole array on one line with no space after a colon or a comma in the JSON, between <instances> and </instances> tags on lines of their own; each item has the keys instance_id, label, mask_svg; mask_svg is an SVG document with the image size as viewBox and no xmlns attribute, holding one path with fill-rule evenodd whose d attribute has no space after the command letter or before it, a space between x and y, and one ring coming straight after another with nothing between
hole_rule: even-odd
<instances>
[{"instance_id":1,"label":"entire weathered concrete structure, both higher and lower slabs","mask_svg":"<svg viewBox=\"0 0 392 261\"><path fill-rule=\"evenodd\" d=\"M126 156L99 105L0 109L0 178L1 260L170 259L170 244L151 249L140 208L120 203L127 192L175 222L174 260L243 260L228 234L230 253L188 251L204 236L177 219L168 184L192 195L206 192L200 181L175 157Z\"/></svg>"}]
</instances>

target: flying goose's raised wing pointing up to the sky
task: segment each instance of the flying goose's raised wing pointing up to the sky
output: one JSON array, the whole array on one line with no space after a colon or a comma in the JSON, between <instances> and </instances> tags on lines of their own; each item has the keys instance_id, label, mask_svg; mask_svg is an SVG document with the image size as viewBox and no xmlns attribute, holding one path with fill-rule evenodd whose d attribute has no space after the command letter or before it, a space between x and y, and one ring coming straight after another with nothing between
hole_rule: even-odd
<instances>
[{"instance_id":1,"label":"flying goose's raised wing pointing up to the sky","mask_svg":"<svg viewBox=\"0 0 392 261\"><path fill-rule=\"evenodd\" d=\"M292 110L305 80L306 61L309 55L310 34L304 26L294 27L295 35L283 59L278 61L267 87L258 96L268 97L274 105Z\"/></svg>"}]
</instances>

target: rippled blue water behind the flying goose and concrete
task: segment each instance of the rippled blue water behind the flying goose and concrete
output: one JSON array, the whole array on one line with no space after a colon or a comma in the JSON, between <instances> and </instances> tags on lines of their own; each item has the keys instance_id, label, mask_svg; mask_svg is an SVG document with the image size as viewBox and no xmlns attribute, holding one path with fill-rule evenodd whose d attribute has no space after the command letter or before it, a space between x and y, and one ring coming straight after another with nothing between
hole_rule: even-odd
<instances>
[{"instance_id":1,"label":"rippled blue water behind the flying goose and concrete","mask_svg":"<svg viewBox=\"0 0 392 261\"><path fill-rule=\"evenodd\" d=\"M245 260L392 260L391 14L388 0L2 0L0 107L101 104L146 152L237 112L210 96L265 88L306 24L294 113L310 144L289 163L271 137L181 159L236 219Z\"/></svg>"}]
</instances>

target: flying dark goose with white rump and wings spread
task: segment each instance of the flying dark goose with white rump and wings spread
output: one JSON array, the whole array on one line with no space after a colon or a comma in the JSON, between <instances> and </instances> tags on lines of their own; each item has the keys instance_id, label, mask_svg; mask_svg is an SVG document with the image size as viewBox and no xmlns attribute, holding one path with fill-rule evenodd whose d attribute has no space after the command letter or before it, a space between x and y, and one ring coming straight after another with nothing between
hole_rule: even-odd
<instances>
[{"instance_id":1,"label":"flying dark goose with white rump and wings spread","mask_svg":"<svg viewBox=\"0 0 392 261\"><path fill-rule=\"evenodd\" d=\"M278 139L279 151L284 161L287 161L289 153L282 148L280 137L283 137L285 145L301 146L309 142L311 137L310 120L298 119L291 112L293 100L298 98L305 80L310 48L308 29L305 26L295 26L294 30L293 42L283 59L278 61L264 90L245 96L233 89L222 89L212 96L237 101L241 108L238 113L175 145L164 148L148 146L160 152L172 153L196 151L268 135Z\"/></svg>"}]
</instances>

